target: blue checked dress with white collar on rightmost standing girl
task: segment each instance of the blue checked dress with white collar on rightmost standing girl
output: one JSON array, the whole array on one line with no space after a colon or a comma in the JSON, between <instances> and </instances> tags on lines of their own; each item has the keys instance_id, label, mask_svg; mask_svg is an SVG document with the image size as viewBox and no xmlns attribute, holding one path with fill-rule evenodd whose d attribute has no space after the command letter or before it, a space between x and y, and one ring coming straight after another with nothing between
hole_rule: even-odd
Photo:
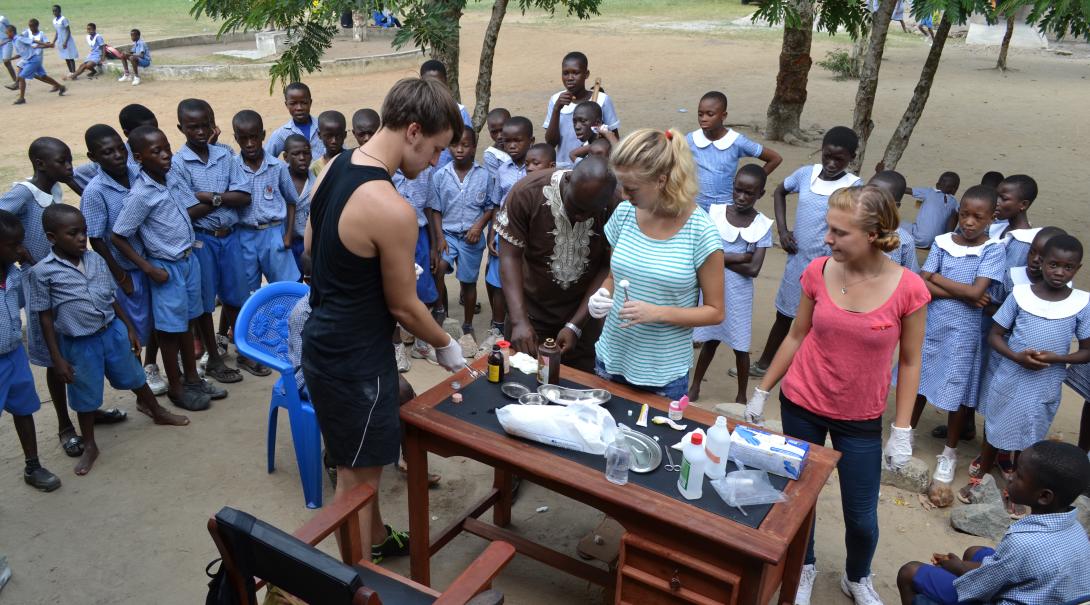
<instances>
[{"instance_id":1,"label":"blue checked dress with white collar on rightmost standing girl","mask_svg":"<svg viewBox=\"0 0 1090 605\"><path fill-rule=\"evenodd\" d=\"M1016 353L1037 349L1066 354L1073 338L1090 338L1090 292L1071 290L1065 300L1052 302L1038 298L1032 286L1016 286L994 319L1010 330L1007 346ZM1066 375L1065 364L1033 371L995 355L983 386L988 443L1018 451L1044 439L1059 409L1059 385Z\"/></svg>"}]
</instances>

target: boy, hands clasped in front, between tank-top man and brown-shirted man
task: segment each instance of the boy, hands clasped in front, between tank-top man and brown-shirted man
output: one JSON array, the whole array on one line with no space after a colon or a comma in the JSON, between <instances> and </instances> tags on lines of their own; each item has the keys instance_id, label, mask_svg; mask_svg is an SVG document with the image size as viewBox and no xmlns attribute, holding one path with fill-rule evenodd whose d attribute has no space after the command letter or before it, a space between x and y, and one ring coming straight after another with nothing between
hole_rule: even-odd
<instances>
[{"instance_id":1,"label":"boy, hands clasped in front, between tank-top man and brown-shirted man","mask_svg":"<svg viewBox=\"0 0 1090 605\"><path fill-rule=\"evenodd\" d=\"M484 253L484 229L492 220L492 178L488 171L473 161L476 157L476 131L465 126L461 137L450 146L453 161L435 171L432 184L436 191L438 208L432 215L436 245L432 250L435 261L435 282L439 290L439 305L447 306L447 288L444 276L458 269L461 301L465 307L462 338L458 343L462 355L476 356L477 343L473 338L473 314L476 308L476 281L481 275L481 256Z\"/></svg>"}]
</instances>

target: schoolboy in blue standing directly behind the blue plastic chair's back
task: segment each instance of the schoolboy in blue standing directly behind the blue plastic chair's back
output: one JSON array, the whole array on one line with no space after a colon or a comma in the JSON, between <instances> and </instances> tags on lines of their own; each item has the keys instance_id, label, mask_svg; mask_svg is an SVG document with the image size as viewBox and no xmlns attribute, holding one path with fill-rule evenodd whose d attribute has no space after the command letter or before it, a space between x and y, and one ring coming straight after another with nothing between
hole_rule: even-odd
<instances>
[{"instance_id":1,"label":"schoolboy in blue standing directly behind the blue plastic chair's back","mask_svg":"<svg viewBox=\"0 0 1090 605\"><path fill-rule=\"evenodd\" d=\"M249 292L262 287L263 275L269 283L299 281L299 267L291 255L299 194L288 165L262 148L265 126L256 111L235 113L231 128L239 144L233 161L247 179L252 199L239 210L239 242Z\"/></svg>"}]
</instances>

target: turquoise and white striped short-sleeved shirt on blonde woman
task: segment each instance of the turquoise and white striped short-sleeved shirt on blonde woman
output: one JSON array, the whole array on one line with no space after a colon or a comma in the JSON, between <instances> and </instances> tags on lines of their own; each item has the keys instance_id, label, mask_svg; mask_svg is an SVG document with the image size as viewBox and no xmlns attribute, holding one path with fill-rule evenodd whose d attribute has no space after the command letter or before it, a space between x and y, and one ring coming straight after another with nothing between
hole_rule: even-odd
<instances>
[{"instance_id":1,"label":"turquoise and white striped short-sleeved shirt on blonde woman","mask_svg":"<svg viewBox=\"0 0 1090 605\"><path fill-rule=\"evenodd\" d=\"M689 374L692 365L692 328L669 324L640 324L621 328L620 307L629 281L630 300L663 306L697 306L700 286L697 270L723 243L707 213L697 208L668 240L643 234L635 208L621 202L605 228L613 246L614 307L606 316L595 346L598 360L610 374L633 385L657 387Z\"/></svg>"}]
</instances>

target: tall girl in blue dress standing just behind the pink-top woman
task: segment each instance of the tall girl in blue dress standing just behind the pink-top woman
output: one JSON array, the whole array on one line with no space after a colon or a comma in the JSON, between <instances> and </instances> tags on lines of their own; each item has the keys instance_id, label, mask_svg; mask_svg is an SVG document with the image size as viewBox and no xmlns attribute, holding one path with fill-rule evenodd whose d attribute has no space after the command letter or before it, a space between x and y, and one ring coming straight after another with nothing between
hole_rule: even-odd
<instances>
[{"instance_id":1,"label":"tall girl in blue dress standing just behind the pink-top woman","mask_svg":"<svg viewBox=\"0 0 1090 605\"><path fill-rule=\"evenodd\" d=\"M855 131L848 126L829 129L822 140L821 164L799 168L773 194L779 245L787 252L787 265L776 292L776 320L768 331L761 359L750 366L753 376L764 376L776 350L787 337L802 297L802 271L811 261L829 253L825 245L828 196L836 190L862 183L859 177L846 170L858 148L859 136ZM788 193L799 194L794 231L787 229Z\"/></svg>"}]
</instances>

